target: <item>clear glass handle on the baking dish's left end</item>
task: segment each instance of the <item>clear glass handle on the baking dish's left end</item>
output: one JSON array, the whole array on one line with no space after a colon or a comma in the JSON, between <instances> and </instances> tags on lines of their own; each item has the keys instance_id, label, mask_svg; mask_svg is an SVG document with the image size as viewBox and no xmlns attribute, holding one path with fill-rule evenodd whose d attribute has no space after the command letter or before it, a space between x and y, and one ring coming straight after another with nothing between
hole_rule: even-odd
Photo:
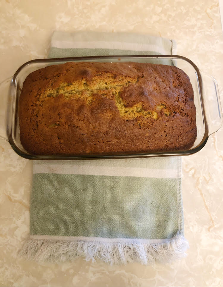
<instances>
[{"instance_id":1,"label":"clear glass handle on the baking dish's left end","mask_svg":"<svg viewBox=\"0 0 223 287\"><path fill-rule=\"evenodd\" d=\"M4 80L0 84L0 95L1 95L1 108L0 108L0 138L8 141L7 137L7 112L9 109L9 89L12 77Z\"/></svg>"}]
</instances>

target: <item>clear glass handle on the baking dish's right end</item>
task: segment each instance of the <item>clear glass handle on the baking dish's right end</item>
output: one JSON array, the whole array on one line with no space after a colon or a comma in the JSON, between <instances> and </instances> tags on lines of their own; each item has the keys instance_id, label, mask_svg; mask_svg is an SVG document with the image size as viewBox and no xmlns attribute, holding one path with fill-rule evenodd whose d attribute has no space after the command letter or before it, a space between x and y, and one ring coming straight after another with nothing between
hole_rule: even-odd
<instances>
[{"instance_id":1,"label":"clear glass handle on the baking dish's right end","mask_svg":"<svg viewBox=\"0 0 223 287\"><path fill-rule=\"evenodd\" d=\"M222 108L216 80L208 74L201 71L200 73L202 77L205 115L208 123L208 135L210 136L218 131L222 125Z\"/></svg>"}]
</instances>

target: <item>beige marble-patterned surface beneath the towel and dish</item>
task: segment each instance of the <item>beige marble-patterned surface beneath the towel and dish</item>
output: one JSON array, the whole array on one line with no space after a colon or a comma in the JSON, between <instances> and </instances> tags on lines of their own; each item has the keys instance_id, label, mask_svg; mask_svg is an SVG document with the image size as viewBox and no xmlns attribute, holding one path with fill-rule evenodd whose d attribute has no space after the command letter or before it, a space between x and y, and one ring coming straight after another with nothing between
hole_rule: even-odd
<instances>
[{"instance_id":1,"label":"beige marble-patterned surface beneath the towel and dish","mask_svg":"<svg viewBox=\"0 0 223 287\"><path fill-rule=\"evenodd\" d=\"M175 39L178 54L216 78L223 103L223 38L216 0L1 0L0 81L24 62L46 57L54 30L132 31ZM1 97L5 95L1 94ZM0 139L0 285L223 285L223 128L183 158L188 256L173 264L36 264L18 258L29 232L32 162Z\"/></svg>"}]
</instances>

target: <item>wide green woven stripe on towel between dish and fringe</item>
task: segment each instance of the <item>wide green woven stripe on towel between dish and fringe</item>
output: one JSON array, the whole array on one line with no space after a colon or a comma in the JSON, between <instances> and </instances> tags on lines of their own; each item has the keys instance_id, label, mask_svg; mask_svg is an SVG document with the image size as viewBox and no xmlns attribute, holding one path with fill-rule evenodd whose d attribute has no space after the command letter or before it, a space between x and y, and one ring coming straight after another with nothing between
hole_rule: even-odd
<instances>
[{"instance_id":1,"label":"wide green woven stripe on towel between dish and fringe","mask_svg":"<svg viewBox=\"0 0 223 287\"><path fill-rule=\"evenodd\" d=\"M170 239L182 235L179 192L178 178L35 174L30 233Z\"/></svg>"}]
</instances>

